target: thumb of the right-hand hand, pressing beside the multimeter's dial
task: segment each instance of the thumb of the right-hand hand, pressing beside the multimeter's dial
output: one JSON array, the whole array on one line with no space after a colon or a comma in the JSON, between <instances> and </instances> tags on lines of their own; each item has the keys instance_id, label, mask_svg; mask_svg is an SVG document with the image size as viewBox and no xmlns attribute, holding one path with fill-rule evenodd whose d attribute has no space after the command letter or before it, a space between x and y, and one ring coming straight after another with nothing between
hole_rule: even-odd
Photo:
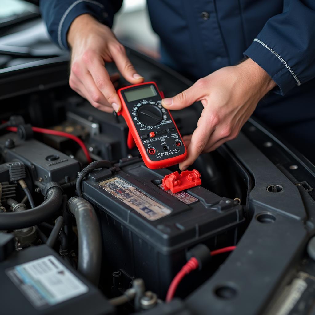
<instances>
[{"instance_id":1,"label":"thumb of the right-hand hand, pressing beside the multimeter's dial","mask_svg":"<svg viewBox=\"0 0 315 315\"><path fill-rule=\"evenodd\" d=\"M174 97L165 98L162 100L162 105L171 110L178 110L192 105L197 100L201 100L205 96L204 85L201 85L201 80L198 80L190 88L180 92ZM204 83L203 83L204 84Z\"/></svg>"}]
</instances>

